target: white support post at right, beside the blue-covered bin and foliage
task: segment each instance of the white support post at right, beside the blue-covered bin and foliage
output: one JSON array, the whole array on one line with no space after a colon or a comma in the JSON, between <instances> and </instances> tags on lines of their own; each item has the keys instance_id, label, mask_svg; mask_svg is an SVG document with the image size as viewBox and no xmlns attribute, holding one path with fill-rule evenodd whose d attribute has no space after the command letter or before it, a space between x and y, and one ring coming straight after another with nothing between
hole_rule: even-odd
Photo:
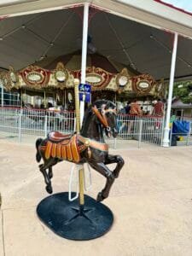
<instances>
[{"instance_id":1,"label":"white support post at right, beside the blue-covered bin and foliage","mask_svg":"<svg viewBox=\"0 0 192 256\"><path fill-rule=\"evenodd\" d=\"M174 37L174 44L172 50L172 67L170 73L170 84L169 84L169 95L168 95L168 102L166 108L166 126L164 129L164 137L163 137L163 147L169 147L169 123L170 123L170 116L171 116L171 108L172 108L172 90L173 90L173 83L174 83L174 73L175 73L175 64L176 64L176 56L177 56L177 38L178 34L175 32Z\"/></svg>"}]
</instances>

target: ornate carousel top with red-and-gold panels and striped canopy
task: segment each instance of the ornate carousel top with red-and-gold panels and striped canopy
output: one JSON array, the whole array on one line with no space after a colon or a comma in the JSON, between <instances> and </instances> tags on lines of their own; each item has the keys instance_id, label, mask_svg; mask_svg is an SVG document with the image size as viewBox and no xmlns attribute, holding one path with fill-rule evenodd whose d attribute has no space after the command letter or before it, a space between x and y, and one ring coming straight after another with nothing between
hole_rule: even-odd
<instances>
[{"instance_id":1,"label":"ornate carousel top with red-and-gold panels and striped canopy","mask_svg":"<svg viewBox=\"0 0 192 256\"><path fill-rule=\"evenodd\" d=\"M19 71L9 67L9 71L1 73L0 78L5 90L41 92L70 89L73 88L74 79L81 78L80 64L79 53L57 57L55 60L48 57ZM87 65L85 82L91 84L92 91L111 90L137 96L164 95L166 86L163 81L157 83L149 74L133 73L133 69L129 70L120 63L114 66L102 55L88 55Z\"/></svg>"}]
</instances>

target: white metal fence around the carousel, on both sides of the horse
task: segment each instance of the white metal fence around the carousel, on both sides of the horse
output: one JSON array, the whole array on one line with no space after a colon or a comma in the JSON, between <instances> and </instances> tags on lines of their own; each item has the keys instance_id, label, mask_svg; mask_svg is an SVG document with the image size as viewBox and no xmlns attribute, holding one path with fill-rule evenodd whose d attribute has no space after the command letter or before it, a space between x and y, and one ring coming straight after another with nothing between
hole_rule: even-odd
<instances>
[{"instance_id":1,"label":"white metal fence around the carousel, on both sides of the horse","mask_svg":"<svg viewBox=\"0 0 192 256\"><path fill-rule=\"evenodd\" d=\"M75 113L68 111L50 111L31 108L0 108L0 134L1 137L15 137L21 142L34 137L46 137L49 131L61 131L73 133L75 131ZM192 125L192 122L190 122ZM128 114L118 115L119 135L115 140L108 141L113 148L117 143L125 140L134 140L137 147L142 143L161 145L164 130L164 119L153 116L132 116ZM191 126L192 128L192 126ZM178 144L192 144L191 128L183 137L177 137L182 141ZM175 135L175 134L174 134ZM172 131L170 132L171 145ZM179 136L179 135L177 135ZM186 143L185 143L186 142Z\"/></svg>"}]
</instances>

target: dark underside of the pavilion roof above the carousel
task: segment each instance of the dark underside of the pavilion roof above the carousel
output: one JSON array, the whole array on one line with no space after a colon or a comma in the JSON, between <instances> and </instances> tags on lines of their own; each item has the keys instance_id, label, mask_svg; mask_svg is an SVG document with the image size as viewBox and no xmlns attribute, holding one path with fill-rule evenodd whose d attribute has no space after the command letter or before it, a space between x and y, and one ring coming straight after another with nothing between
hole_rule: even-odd
<instances>
[{"instance_id":1,"label":"dark underside of the pavilion roof above the carousel","mask_svg":"<svg viewBox=\"0 0 192 256\"><path fill-rule=\"evenodd\" d=\"M79 6L32 15L4 15L0 22L0 67L21 70L46 58L55 60L57 56L70 55L81 49L82 24L83 8ZM108 60L131 67L135 73L169 79L172 42L171 32L90 8L89 53L107 56ZM177 78L189 79L192 74L192 51L189 49L192 49L192 41L180 36Z\"/></svg>"}]
</instances>

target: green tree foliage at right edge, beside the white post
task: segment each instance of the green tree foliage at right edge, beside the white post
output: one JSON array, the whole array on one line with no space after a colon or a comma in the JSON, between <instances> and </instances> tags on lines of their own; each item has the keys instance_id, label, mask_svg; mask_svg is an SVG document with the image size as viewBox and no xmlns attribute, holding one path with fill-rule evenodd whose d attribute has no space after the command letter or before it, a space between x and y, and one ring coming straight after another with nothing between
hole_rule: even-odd
<instances>
[{"instance_id":1,"label":"green tree foliage at right edge, beside the white post","mask_svg":"<svg viewBox=\"0 0 192 256\"><path fill-rule=\"evenodd\" d=\"M192 103L192 81L176 82L173 88L173 96L183 103Z\"/></svg>"}]
</instances>

